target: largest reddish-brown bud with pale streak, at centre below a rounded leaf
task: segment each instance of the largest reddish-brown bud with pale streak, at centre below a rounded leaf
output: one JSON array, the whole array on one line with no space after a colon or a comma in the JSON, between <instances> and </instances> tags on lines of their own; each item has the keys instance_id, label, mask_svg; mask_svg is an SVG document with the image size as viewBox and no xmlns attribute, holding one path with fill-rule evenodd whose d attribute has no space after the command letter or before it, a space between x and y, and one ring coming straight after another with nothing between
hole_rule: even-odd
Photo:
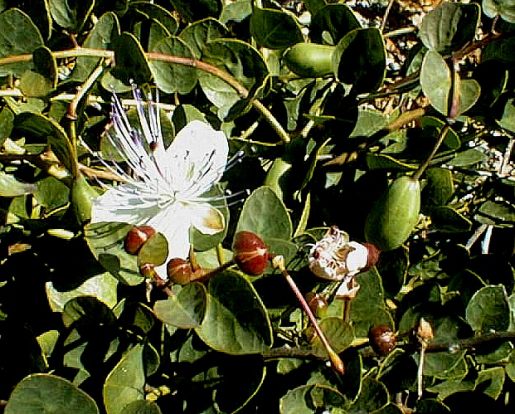
<instances>
[{"instance_id":1,"label":"largest reddish-brown bud with pale streak, at centre below a rounded leaf","mask_svg":"<svg viewBox=\"0 0 515 414\"><path fill-rule=\"evenodd\" d=\"M232 251L234 262L240 270L251 276L262 274L270 255L263 240L250 231L240 231L234 236Z\"/></svg>"}]
</instances>

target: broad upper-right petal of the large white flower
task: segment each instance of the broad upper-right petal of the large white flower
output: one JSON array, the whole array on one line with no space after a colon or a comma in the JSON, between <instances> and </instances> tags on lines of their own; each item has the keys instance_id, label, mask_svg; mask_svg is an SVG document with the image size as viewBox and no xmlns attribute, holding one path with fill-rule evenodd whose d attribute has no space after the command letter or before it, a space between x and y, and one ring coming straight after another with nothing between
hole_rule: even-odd
<instances>
[{"instance_id":1,"label":"broad upper-right petal of the large white flower","mask_svg":"<svg viewBox=\"0 0 515 414\"><path fill-rule=\"evenodd\" d=\"M229 145L221 131L192 121L179 131L167 149L161 172L177 196L192 201L217 183L225 170Z\"/></svg>"}]
</instances>

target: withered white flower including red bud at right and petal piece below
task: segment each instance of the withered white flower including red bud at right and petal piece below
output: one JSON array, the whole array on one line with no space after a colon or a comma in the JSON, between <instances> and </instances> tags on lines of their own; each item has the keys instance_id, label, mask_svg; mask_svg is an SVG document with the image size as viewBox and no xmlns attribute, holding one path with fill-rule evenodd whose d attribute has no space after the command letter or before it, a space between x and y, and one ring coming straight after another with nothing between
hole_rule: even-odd
<instances>
[{"instance_id":1,"label":"withered white flower including red bud at right and petal piece below","mask_svg":"<svg viewBox=\"0 0 515 414\"><path fill-rule=\"evenodd\" d=\"M359 289L354 276L374 266L379 250L370 243L349 240L349 236L332 226L309 251L309 269L318 277L342 282L336 292L340 297L353 297Z\"/></svg>"}]
</instances>

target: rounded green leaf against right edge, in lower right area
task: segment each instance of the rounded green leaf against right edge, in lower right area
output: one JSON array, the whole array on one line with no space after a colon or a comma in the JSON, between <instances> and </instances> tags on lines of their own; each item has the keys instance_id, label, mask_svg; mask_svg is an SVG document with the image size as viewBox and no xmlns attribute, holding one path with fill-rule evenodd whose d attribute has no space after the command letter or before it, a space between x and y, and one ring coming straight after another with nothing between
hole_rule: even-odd
<instances>
[{"instance_id":1,"label":"rounded green leaf against right edge, in lower right area","mask_svg":"<svg viewBox=\"0 0 515 414\"><path fill-rule=\"evenodd\" d=\"M477 333L505 331L510 326L510 306L502 285L485 286L470 299L467 322Z\"/></svg>"}]
</instances>

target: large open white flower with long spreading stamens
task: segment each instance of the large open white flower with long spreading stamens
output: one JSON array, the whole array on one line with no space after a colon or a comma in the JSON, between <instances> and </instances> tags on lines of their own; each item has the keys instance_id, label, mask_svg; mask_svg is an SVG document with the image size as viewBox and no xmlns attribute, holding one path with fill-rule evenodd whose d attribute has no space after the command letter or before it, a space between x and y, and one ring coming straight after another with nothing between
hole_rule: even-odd
<instances>
[{"instance_id":1,"label":"large open white flower with long spreading stamens","mask_svg":"<svg viewBox=\"0 0 515 414\"><path fill-rule=\"evenodd\" d=\"M215 234L225 227L223 215L209 204L216 197L204 194L226 168L227 138L204 122L192 121L165 148L158 104L151 98L143 103L135 87L133 93L139 126L129 123L115 96L108 130L108 138L130 167L130 174L104 162L124 182L108 187L94 200L91 221L152 226L168 241L168 259L186 258L191 227L204 234Z\"/></svg>"}]
</instances>

